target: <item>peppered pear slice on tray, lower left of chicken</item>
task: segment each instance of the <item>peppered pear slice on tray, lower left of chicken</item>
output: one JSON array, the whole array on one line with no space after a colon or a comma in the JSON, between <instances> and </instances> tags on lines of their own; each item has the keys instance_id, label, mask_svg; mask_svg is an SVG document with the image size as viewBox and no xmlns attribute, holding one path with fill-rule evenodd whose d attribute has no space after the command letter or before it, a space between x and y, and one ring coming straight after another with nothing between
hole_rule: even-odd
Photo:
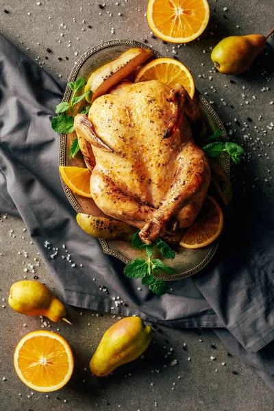
<instances>
[{"instance_id":1,"label":"peppered pear slice on tray, lower left of chicken","mask_svg":"<svg viewBox=\"0 0 274 411\"><path fill-rule=\"evenodd\" d=\"M76 216L78 225L84 232L96 238L105 240L125 240L130 241L136 228L123 221L110 220L105 217L92 216L79 212Z\"/></svg>"}]
</instances>

